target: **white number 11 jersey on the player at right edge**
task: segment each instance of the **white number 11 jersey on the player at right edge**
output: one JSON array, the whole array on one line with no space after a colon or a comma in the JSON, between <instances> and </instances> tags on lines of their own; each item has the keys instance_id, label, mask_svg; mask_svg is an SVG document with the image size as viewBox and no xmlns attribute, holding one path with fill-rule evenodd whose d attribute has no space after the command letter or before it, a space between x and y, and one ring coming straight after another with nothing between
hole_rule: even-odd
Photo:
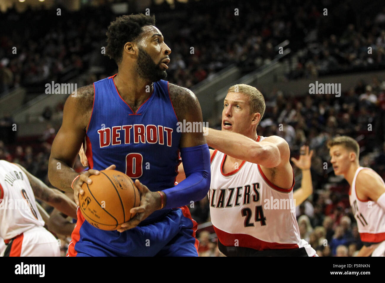
<instances>
[{"instance_id":1,"label":"white number 11 jersey on the player at right edge","mask_svg":"<svg viewBox=\"0 0 385 283\"><path fill-rule=\"evenodd\" d=\"M375 201L362 201L358 199L356 179L358 173L364 169L372 170L367 167L357 168L349 191L349 201L352 206L354 217L357 220L361 241L365 245L370 245L385 241L385 211ZM375 172L374 170L372 171ZM381 176L377 173L376 175L380 178L381 182L385 184Z\"/></svg>"}]
</instances>

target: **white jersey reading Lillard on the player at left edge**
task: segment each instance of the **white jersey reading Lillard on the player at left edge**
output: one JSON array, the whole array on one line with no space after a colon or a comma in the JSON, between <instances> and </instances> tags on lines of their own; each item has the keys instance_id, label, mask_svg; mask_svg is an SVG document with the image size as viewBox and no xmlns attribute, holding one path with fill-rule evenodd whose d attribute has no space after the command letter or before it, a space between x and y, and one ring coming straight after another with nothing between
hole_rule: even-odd
<instances>
[{"instance_id":1,"label":"white jersey reading Lillard on the player at left edge","mask_svg":"<svg viewBox=\"0 0 385 283\"><path fill-rule=\"evenodd\" d=\"M36 226L44 226L27 175L0 160L0 237L9 240Z\"/></svg>"}]
</instances>

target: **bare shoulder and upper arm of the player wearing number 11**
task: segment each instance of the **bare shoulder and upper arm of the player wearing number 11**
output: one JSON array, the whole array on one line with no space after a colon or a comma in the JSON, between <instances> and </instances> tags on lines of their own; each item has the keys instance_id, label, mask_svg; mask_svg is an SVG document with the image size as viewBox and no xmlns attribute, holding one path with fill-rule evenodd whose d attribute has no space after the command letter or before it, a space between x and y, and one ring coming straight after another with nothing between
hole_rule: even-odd
<instances>
[{"instance_id":1,"label":"bare shoulder and upper arm of the player wearing number 11","mask_svg":"<svg viewBox=\"0 0 385 283\"><path fill-rule=\"evenodd\" d=\"M372 170L361 170L355 184L357 196L364 201L377 201L385 193L385 186L378 175Z\"/></svg>"}]
</instances>

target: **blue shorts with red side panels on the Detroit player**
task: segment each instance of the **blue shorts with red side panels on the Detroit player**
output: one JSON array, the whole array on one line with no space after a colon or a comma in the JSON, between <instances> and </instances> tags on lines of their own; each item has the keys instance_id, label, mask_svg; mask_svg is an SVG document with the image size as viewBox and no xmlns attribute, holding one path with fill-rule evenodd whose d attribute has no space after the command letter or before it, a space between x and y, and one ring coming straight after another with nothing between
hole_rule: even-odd
<instances>
[{"instance_id":1,"label":"blue shorts with red side panels on the Detroit player","mask_svg":"<svg viewBox=\"0 0 385 283\"><path fill-rule=\"evenodd\" d=\"M187 206L174 208L162 219L120 233L88 223L80 209L67 256L198 256L198 224Z\"/></svg>"}]
</instances>

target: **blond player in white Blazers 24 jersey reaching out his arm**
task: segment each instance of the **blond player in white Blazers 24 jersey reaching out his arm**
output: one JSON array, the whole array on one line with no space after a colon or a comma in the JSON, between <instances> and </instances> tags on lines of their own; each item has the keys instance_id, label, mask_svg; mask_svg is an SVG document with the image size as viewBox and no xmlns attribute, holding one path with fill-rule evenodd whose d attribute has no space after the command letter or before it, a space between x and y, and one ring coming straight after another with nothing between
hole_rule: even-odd
<instances>
[{"instance_id":1,"label":"blond player in white Blazers 24 jersey reaching out his arm","mask_svg":"<svg viewBox=\"0 0 385 283\"><path fill-rule=\"evenodd\" d=\"M211 153L209 204L219 250L227 256L316 256L295 216L288 143L261 137L265 111L255 87L228 89L222 131L206 129Z\"/></svg>"}]
</instances>

